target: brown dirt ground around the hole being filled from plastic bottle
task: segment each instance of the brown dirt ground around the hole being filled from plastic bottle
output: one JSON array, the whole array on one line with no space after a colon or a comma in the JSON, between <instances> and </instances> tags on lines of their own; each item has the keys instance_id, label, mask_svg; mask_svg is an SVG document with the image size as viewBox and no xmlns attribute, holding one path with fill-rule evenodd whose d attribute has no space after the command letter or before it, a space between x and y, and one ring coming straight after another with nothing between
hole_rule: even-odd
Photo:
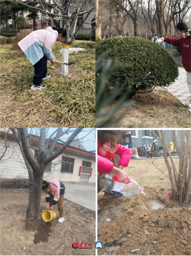
<instances>
[{"instance_id":1,"label":"brown dirt ground around the hole being filled from plastic bottle","mask_svg":"<svg viewBox=\"0 0 191 256\"><path fill-rule=\"evenodd\" d=\"M153 164L153 159L131 160L125 172L144 187L143 194L103 199L98 194L98 241L122 242L121 246L104 246L98 255L191 255L190 205L180 206L168 196L170 181ZM179 159L173 158L178 166ZM167 172L163 158L153 162ZM165 204L163 211L153 213L144 202L150 199ZM106 219L111 220L107 221ZM132 250L137 250L131 252Z\"/></svg>"}]
</instances>

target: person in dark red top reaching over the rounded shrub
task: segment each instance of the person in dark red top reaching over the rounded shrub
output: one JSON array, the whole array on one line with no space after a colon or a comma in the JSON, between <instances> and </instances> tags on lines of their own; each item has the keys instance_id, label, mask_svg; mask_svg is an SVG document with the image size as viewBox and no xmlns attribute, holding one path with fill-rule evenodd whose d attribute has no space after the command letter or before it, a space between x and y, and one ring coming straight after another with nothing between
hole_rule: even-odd
<instances>
[{"instance_id":1,"label":"person in dark red top reaching over the rounded shrub","mask_svg":"<svg viewBox=\"0 0 191 256\"><path fill-rule=\"evenodd\" d=\"M186 70L187 73L187 84L188 88L190 90L190 75L191 75L191 64L190 64L190 44L191 44L191 37L190 37L190 30L188 29L188 26L180 22L176 26L179 35L181 38L169 38L169 37L162 37L159 38L161 39L160 42L166 42L168 44L172 44L174 46L180 47L181 48L181 53L182 53L182 64L183 67ZM187 107L191 108L190 101L186 102L185 104Z\"/></svg>"}]
</instances>

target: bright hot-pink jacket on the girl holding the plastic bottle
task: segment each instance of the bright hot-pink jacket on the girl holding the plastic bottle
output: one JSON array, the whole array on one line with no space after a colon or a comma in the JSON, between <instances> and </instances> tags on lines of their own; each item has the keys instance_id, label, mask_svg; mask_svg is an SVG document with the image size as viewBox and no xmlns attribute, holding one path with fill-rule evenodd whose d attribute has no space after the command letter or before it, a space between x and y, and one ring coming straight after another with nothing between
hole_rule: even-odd
<instances>
[{"instance_id":1,"label":"bright hot-pink jacket on the girl holding the plastic bottle","mask_svg":"<svg viewBox=\"0 0 191 256\"><path fill-rule=\"evenodd\" d=\"M117 151L115 152L121 159L119 160L120 165L128 166L131 159L132 152L126 146L120 144L117 145ZM99 173L110 173L113 170L114 164L105 157L98 155L98 172Z\"/></svg>"}]
</instances>

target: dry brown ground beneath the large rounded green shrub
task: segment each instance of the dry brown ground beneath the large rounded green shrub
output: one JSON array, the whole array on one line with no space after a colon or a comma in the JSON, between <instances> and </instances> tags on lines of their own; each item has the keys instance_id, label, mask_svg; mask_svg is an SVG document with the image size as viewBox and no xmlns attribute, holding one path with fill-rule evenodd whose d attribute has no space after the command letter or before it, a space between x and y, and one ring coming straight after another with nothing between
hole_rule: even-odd
<instances>
[{"instance_id":1,"label":"dry brown ground beneath the large rounded green shrub","mask_svg":"<svg viewBox=\"0 0 191 256\"><path fill-rule=\"evenodd\" d=\"M122 120L111 127L120 128L190 128L190 112L166 90L136 94L135 104L122 108L116 117ZM115 104L115 103L114 103Z\"/></svg>"}]
</instances>

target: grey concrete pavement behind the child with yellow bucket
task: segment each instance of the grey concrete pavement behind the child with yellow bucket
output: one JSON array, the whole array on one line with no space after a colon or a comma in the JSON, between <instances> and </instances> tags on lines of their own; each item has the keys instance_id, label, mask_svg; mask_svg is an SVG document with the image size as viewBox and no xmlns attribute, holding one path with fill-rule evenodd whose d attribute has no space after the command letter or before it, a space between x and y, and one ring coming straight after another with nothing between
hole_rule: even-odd
<instances>
[{"instance_id":1,"label":"grey concrete pavement behind the child with yellow bucket","mask_svg":"<svg viewBox=\"0 0 191 256\"><path fill-rule=\"evenodd\" d=\"M61 181L65 186L65 195L69 201L95 211L95 183Z\"/></svg>"}]
</instances>

